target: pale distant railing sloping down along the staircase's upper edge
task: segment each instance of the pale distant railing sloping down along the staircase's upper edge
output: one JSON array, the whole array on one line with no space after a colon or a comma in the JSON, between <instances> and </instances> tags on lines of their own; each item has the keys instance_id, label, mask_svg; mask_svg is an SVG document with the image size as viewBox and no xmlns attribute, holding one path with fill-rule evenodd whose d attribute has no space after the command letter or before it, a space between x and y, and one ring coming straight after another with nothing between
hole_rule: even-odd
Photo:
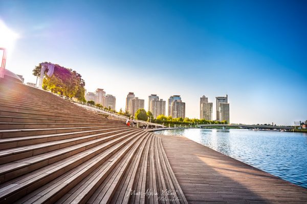
<instances>
[{"instance_id":1,"label":"pale distant railing sloping down along the staircase's upper edge","mask_svg":"<svg viewBox=\"0 0 307 204\"><path fill-rule=\"evenodd\" d=\"M37 88L37 87L34 87L34 88ZM46 90L43 90L43 91L46 91ZM47 91L49 93L52 93L51 91ZM101 113L105 113L107 115L111 115L115 118L120 118L120 119L123 119L123 120L127 120L129 119L129 117L127 116L124 116L124 115L120 115L118 113L114 113L112 111L109 111L109 110L105 110L103 108L100 108L100 107L97 107L97 106L94 106L92 104L89 104L89 103L85 103L83 101L80 101L78 99L73 99L73 98L70 98L70 97L67 97L67 96L63 96L63 95L60 95L60 94L57 94L57 93L52 93L56 96L59 96L59 97L62 97L64 99L67 99L67 100L70 100L72 103L74 104L77 104L78 106L80 107L83 107L83 108L87 108L87 109L91 109L93 111L98 111L98 112L101 112ZM153 126L162 126L162 127L165 127L164 125L162 124L158 124L158 123L153 123L153 122L147 122L147 121L143 121L143 120L137 120L137 119L133 119L134 122L139 122L139 123L143 123L143 124L148 124L148 125L153 125Z\"/></svg>"}]
</instances>

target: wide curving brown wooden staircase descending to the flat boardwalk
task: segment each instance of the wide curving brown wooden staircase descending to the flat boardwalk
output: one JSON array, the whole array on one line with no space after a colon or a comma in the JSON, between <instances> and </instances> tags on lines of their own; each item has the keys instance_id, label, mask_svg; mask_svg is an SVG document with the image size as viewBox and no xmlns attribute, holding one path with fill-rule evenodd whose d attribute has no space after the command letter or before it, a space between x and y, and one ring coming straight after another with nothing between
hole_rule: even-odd
<instances>
[{"instance_id":1,"label":"wide curving brown wooden staircase descending to the flat boardwalk","mask_svg":"<svg viewBox=\"0 0 307 204\"><path fill-rule=\"evenodd\" d=\"M187 203L161 139L0 79L0 203Z\"/></svg>"}]
</instances>

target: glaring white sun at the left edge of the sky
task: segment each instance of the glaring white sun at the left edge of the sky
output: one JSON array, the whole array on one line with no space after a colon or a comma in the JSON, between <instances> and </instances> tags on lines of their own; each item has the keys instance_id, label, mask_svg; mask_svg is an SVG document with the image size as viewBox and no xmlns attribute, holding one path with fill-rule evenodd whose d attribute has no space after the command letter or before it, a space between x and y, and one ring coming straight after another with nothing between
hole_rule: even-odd
<instances>
[{"instance_id":1,"label":"glaring white sun at the left edge of the sky","mask_svg":"<svg viewBox=\"0 0 307 204\"><path fill-rule=\"evenodd\" d=\"M9 29L7 25L0 20L0 47L11 51L14 48L15 42L18 38L19 35Z\"/></svg>"}]
</instances>

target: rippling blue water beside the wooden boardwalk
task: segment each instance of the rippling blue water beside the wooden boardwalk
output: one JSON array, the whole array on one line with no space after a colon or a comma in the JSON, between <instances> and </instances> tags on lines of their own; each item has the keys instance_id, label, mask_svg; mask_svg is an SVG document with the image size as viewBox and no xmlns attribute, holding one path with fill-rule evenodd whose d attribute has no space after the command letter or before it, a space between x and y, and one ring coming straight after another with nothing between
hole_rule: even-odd
<instances>
[{"instance_id":1,"label":"rippling blue water beside the wooden boardwalk","mask_svg":"<svg viewBox=\"0 0 307 204\"><path fill-rule=\"evenodd\" d=\"M182 135L236 160L307 188L307 134L248 130L177 129Z\"/></svg>"}]
</instances>

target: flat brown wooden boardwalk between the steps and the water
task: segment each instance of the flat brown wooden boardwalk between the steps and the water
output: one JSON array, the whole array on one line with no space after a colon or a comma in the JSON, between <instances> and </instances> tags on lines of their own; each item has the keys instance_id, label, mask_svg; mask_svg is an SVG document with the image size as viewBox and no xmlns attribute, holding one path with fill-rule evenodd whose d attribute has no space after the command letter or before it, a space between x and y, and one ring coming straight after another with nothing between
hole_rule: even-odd
<instances>
[{"instance_id":1,"label":"flat brown wooden boardwalk between the steps and the water","mask_svg":"<svg viewBox=\"0 0 307 204\"><path fill-rule=\"evenodd\" d=\"M181 136L160 136L189 203L307 203L307 189Z\"/></svg>"}]
</instances>

